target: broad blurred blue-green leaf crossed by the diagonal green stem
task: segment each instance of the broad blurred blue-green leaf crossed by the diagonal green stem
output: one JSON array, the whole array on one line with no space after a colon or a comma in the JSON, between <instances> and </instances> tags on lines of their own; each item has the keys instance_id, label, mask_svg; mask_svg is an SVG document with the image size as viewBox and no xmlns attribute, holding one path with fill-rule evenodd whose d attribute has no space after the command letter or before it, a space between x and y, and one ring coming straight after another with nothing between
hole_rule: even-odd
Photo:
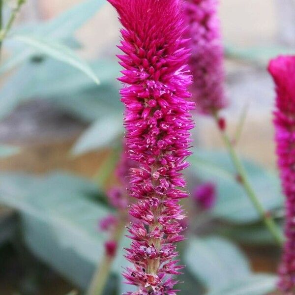
<instances>
[{"instance_id":1,"label":"broad blurred blue-green leaf crossed by the diagonal green stem","mask_svg":"<svg viewBox=\"0 0 295 295\"><path fill-rule=\"evenodd\" d=\"M236 181L235 169L227 153L197 150L191 156L192 173L204 181L217 185L218 200L212 213L234 223L251 223L260 220L243 187ZM258 198L266 211L283 206L279 178L256 163L243 159Z\"/></svg>"}]
</instances>

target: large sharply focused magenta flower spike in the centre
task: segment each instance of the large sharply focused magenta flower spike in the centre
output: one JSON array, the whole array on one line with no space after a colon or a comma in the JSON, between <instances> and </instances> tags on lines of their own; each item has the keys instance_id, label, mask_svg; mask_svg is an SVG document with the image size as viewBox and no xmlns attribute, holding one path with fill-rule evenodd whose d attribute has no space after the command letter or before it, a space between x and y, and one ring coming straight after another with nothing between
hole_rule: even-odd
<instances>
[{"instance_id":1,"label":"large sharply focused magenta flower spike in the centre","mask_svg":"<svg viewBox=\"0 0 295 295\"><path fill-rule=\"evenodd\" d=\"M181 170L194 123L187 88L188 49L183 48L182 0L109 0L118 11L122 41L118 56L125 68L120 90L126 107L124 124L130 158L139 164L131 171L130 194L137 203L130 215L138 222L129 230L132 243L126 258L133 264L123 273L136 292L127 295L175 295L173 278L182 266L175 260L181 241L179 199L186 186Z\"/></svg>"}]
</instances>

